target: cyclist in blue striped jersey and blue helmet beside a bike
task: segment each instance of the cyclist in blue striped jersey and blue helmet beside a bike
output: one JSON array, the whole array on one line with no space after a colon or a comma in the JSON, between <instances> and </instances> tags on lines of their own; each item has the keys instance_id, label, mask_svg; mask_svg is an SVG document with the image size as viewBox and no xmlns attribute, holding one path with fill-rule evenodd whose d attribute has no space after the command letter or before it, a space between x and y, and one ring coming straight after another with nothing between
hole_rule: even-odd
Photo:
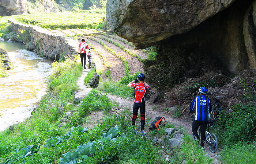
<instances>
[{"instance_id":1,"label":"cyclist in blue striped jersey and blue helmet beside a bike","mask_svg":"<svg viewBox=\"0 0 256 164\"><path fill-rule=\"evenodd\" d=\"M209 112L212 110L211 101L206 97L207 89L205 87L199 88L199 95L193 98L190 104L190 112L195 110L195 118L192 122L192 132L195 140L199 140L197 130L200 126L201 134L201 147L204 147L204 141L206 140L205 131L208 124Z\"/></svg>"}]
</instances>

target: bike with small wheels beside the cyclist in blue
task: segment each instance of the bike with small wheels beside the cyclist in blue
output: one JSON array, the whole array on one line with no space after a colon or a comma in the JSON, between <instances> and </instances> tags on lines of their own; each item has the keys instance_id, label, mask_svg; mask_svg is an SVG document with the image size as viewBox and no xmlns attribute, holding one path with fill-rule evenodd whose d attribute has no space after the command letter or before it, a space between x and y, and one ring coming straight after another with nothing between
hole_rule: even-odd
<instances>
[{"instance_id":1,"label":"bike with small wheels beside the cyclist in blue","mask_svg":"<svg viewBox=\"0 0 256 164\"><path fill-rule=\"evenodd\" d=\"M211 123L211 121L208 122L208 128L205 131L205 135L206 135L206 141L205 142L208 142L210 151L215 153L218 149L218 140L217 140L217 137L214 133L209 133L208 132L209 131L209 126L211 126L214 129L214 127L210 123ZM198 133L198 136L199 136L199 139L200 139L200 127L198 128L197 133Z\"/></svg>"}]
</instances>

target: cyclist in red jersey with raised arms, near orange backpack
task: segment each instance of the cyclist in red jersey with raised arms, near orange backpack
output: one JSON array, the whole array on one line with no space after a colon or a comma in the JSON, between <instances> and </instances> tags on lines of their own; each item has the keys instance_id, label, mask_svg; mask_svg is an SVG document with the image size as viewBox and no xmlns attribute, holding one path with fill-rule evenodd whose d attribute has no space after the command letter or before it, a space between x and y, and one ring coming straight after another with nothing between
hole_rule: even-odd
<instances>
[{"instance_id":1,"label":"cyclist in red jersey with raised arms, near orange backpack","mask_svg":"<svg viewBox=\"0 0 256 164\"><path fill-rule=\"evenodd\" d=\"M138 80L139 79L139 80ZM150 86L144 81L145 75L139 74L138 79L135 79L127 85L128 87L132 87L134 89L135 98L133 101L133 113L132 113L132 126L135 126L135 121L138 116L138 110L140 109L140 128L141 134L145 135L144 126L145 126L145 113L146 113L146 105L145 98L147 91L150 90ZM138 83L139 82L139 83Z\"/></svg>"}]
</instances>

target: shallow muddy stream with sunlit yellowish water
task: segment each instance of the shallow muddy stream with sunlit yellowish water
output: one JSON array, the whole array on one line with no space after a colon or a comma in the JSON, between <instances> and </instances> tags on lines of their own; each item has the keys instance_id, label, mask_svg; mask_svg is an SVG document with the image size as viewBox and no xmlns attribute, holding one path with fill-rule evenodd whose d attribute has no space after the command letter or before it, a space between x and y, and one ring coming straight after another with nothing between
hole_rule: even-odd
<instances>
[{"instance_id":1,"label":"shallow muddy stream with sunlit yellowish water","mask_svg":"<svg viewBox=\"0 0 256 164\"><path fill-rule=\"evenodd\" d=\"M0 78L0 131L30 117L36 102L45 94L46 77L51 63L34 52L25 50L24 44L0 42L11 60L9 77Z\"/></svg>"}]
</instances>

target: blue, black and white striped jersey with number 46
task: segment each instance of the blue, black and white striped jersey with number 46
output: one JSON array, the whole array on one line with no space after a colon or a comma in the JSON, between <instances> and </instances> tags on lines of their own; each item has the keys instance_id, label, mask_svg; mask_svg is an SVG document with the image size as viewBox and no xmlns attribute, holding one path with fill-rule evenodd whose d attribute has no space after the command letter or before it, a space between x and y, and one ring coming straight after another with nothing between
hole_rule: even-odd
<instances>
[{"instance_id":1,"label":"blue, black and white striped jersey with number 46","mask_svg":"<svg viewBox=\"0 0 256 164\"><path fill-rule=\"evenodd\" d=\"M211 101L205 95L195 96L190 104L190 112L196 110L195 120L208 121L208 114L212 110Z\"/></svg>"}]
</instances>

